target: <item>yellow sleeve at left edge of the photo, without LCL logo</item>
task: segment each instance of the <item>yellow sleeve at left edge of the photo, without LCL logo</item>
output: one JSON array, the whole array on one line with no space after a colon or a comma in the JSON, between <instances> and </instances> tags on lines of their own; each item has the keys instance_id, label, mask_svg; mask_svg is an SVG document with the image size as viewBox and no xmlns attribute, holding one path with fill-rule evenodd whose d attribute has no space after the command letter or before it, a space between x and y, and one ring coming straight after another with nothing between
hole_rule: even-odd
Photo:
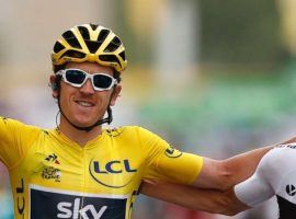
<instances>
[{"instance_id":1,"label":"yellow sleeve at left edge of the photo, without LCL logo","mask_svg":"<svg viewBox=\"0 0 296 219\"><path fill-rule=\"evenodd\" d=\"M27 151L39 129L18 120L0 117L0 160L12 168Z\"/></svg>"}]
</instances>

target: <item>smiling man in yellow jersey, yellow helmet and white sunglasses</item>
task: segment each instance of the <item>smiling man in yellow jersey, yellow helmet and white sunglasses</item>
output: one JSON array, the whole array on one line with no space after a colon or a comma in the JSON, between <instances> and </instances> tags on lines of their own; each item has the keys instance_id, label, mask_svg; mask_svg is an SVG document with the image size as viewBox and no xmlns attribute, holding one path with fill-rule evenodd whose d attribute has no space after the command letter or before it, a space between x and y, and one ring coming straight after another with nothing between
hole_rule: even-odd
<instances>
[{"instance_id":1,"label":"smiling man in yellow jersey, yellow helmet and white sunglasses","mask_svg":"<svg viewBox=\"0 0 296 219\"><path fill-rule=\"evenodd\" d=\"M52 60L58 127L0 118L0 159L16 219L127 219L143 180L227 189L249 177L271 149L216 161L178 151L141 127L103 129L127 66L123 43L110 28L73 26L55 43Z\"/></svg>"}]
</instances>

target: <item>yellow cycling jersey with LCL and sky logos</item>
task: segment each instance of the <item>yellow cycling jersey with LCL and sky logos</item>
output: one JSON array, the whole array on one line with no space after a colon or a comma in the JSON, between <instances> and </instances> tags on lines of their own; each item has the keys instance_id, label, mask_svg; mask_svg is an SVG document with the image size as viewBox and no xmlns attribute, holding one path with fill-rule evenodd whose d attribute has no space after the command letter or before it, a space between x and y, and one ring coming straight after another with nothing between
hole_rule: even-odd
<instances>
[{"instance_id":1,"label":"yellow cycling jersey with LCL and sky logos","mask_svg":"<svg viewBox=\"0 0 296 219\"><path fill-rule=\"evenodd\" d=\"M129 219L144 178L191 184L203 164L137 126L104 129L80 147L58 129L3 117L0 159L16 219Z\"/></svg>"}]
</instances>

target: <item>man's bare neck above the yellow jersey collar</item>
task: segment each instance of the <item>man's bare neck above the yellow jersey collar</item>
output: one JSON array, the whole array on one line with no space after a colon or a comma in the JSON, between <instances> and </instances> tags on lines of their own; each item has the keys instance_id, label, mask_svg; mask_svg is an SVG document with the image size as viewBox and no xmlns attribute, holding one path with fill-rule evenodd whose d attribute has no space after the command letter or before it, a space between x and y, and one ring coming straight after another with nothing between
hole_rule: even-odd
<instances>
[{"instance_id":1,"label":"man's bare neck above the yellow jersey collar","mask_svg":"<svg viewBox=\"0 0 296 219\"><path fill-rule=\"evenodd\" d=\"M94 127L90 131L79 130L71 126L64 116L60 117L59 130L69 139L77 142L79 146L84 147L86 143L102 134L102 126Z\"/></svg>"}]
</instances>

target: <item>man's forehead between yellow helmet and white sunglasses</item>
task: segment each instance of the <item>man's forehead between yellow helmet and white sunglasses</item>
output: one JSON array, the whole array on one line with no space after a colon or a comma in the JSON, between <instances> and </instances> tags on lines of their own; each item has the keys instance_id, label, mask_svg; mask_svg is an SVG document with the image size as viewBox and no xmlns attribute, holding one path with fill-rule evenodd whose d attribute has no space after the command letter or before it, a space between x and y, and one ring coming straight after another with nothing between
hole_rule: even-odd
<instances>
[{"instance_id":1,"label":"man's forehead between yellow helmet and white sunglasses","mask_svg":"<svg viewBox=\"0 0 296 219\"><path fill-rule=\"evenodd\" d=\"M76 68L76 69L81 69L83 71L87 71L89 73L107 73L113 76L113 69L107 66L100 66L96 62L68 62L66 65L66 69L69 68Z\"/></svg>"}]
</instances>

